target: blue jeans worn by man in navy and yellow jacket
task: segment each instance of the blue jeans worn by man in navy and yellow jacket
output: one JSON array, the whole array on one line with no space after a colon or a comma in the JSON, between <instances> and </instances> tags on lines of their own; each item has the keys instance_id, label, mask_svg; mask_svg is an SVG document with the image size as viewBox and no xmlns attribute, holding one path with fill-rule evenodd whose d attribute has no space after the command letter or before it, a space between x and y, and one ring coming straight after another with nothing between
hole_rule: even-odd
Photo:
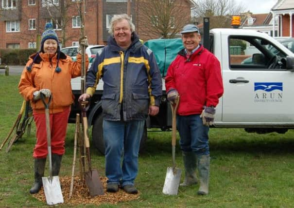
<instances>
[{"instance_id":1,"label":"blue jeans worn by man in navy and yellow jacket","mask_svg":"<svg viewBox=\"0 0 294 208\"><path fill-rule=\"evenodd\" d=\"M107 183L134 185L138 174L138 152L145 121L103 120L105 174ZM121 166L121 156L123 156Z\"/></svg>"}]
</instances>

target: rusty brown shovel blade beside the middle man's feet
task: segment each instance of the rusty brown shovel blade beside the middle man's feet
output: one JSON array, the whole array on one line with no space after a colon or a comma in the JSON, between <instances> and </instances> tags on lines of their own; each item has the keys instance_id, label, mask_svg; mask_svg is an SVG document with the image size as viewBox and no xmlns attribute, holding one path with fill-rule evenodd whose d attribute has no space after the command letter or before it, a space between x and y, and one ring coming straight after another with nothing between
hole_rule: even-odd
<instances>
[{"instance_id":1,"label":"rusty brown shovel blade beside the middle man's feet","mask_svg":"<svg viewBox=\"0 0 294 208\"><path fill-rule=\"evenodd\" d=\"M94 169L92 171L85 172L85 180L91 197L104 194L103 185L97 170Z\"/></svg>"}]
</instances>

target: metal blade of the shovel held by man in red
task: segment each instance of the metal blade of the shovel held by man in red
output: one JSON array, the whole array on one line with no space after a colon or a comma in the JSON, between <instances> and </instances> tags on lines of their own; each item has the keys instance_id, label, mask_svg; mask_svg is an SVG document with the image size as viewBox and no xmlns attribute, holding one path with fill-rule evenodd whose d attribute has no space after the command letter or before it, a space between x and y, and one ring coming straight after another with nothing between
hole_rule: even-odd
<instances>
[{"instance_id":1,"label":"metal blade of the shovel held by man in red","mask_svg":"<svg viewBox=\"0 0 294 208\"><path fill-rule=\"evenodd\" d=\"M177 195L180 185L182 170L178 168L167 168L162 193L167 195Z\"/></svg>"}]
</instances>

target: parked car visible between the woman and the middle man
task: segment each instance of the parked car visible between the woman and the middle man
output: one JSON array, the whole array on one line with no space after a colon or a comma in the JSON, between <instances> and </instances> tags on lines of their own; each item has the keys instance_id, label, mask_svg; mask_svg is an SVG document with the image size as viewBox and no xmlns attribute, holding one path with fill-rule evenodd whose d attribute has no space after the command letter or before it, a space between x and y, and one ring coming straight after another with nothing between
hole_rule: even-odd
<instances>
[{"instance_id":1,"label":"parked car visible between the woman and the middle man","mask_svg":"<svg viewBox=\"0 0 294 208\"><path fill-rule=\"evenodd\" d=\"M104 45L89 45L86 48L86 54L89 57L89 68L91 64L94 62L94 59L99 51L104 48ZM66 55L70 56L72 60L76 60L76 56L78 54L78 46L69 46L60 49L61 52L65 53Z\"/></svg>"}]
</instances>

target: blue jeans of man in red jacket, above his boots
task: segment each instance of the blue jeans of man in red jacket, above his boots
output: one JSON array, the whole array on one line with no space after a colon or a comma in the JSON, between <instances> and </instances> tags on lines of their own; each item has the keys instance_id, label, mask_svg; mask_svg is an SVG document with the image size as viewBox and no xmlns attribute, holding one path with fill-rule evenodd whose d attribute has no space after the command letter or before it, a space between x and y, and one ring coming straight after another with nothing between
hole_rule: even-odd
<instances>
[{"instance_id":1,"label":"blue jeans of man in red jacket, above his boots","mask_svg":"<svg viewBox=\"0 0 294 208\"><path fill-rule=\"evenodd\" d=\"M176 125L180 134L180 146L182 151L193 151L197 156L208 155L208 130L203 125L199 114L176 115Z\"/></svg>"}]
</instances>

